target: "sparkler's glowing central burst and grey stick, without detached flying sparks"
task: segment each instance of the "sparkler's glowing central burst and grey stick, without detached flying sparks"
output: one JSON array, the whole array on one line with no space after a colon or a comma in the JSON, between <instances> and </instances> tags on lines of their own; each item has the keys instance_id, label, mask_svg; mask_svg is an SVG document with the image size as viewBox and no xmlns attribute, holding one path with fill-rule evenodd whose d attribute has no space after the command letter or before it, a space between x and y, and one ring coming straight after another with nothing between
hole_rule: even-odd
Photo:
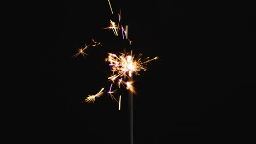
<instances>
[{"instance_id":1,"label":"sparkler's glowing central burst and grey stick, without detached flying sparks","mask_svg":"<svg viewBox=\"0 0 256 144\"><path fill-rule=\"evenodd\" d=\"M157 59L158 57L155 57L153 59L149 59L147 57L146 59L141 59L142 54L140 53L137 58L132 55L132 51L120 53L119 56L115 55L114 53L108 53L108 58L105 60L108 61L110 66L112 66L113 76L108 77L108 79L112 80L113 82L118 78L119 79L119 87L120 83L126 84L126 89L129 91L129 116L130 116L130 143L133 143L133 93L137 94L135 91L135 87L133 87L132 83L133 76L132 74L139 75L139 71L141 70L147 70L146 65L150 61ZM129 81L124 82L122 79L129 77ZM119 109L120 109L120 102L119 102Z\"/></svg>"}]
</instances>

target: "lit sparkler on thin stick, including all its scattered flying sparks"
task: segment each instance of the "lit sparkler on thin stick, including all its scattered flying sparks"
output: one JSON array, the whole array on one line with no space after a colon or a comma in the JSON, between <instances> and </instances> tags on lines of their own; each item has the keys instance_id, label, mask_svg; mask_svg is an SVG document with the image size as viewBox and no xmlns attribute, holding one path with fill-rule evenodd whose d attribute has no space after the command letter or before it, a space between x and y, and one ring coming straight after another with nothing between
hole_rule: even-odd
<instances>
[{"instance_id":1,"label":"lit sparkler on thin stick, including all its scattered flying sparks","mask_svg":"<svg viewBox=\"0 0 256 144\"><path fill-rule=\"evenodd\" d=\"M110 4L110 1L108 0L110 10L113 14L113 10ZM114 21L110 20L110 26L106 27L104 29L112 29L114 34L118 36L119 30L121 30L123 39L126 39L129 41L129 44L131 45L132 40L128 39L128 25L123 27L120 24L121 20L121 10L120 13L118 14L119 19L118 19L118 25L115 24ZM120 26L119 26L120 25ZM93 44L91 46L102 46L102 44L94 39L92 39ZM73 57L77 57L78 55L88 55L85 53L85 50L88 49L90 45L86 46L83 49L79 49L79 52L75 54ZM153 61L154 59L157 59L158 57L154 57L152 59L149 59L149 57L142 59L141 58L142 54L139 53L138 57L135 58L134 55L132 55L131 52L124 52L124 53L119 53L119 55L115 55L114 53L108 53L108 57L105 58L106 61L108 61L110 64L109 66L111 67L111 70L113 72L112 76L108 77L109 80L111 80L113 83L118 80L118 86L120 88L121 85L126 85L126 89L129 90L129 115L130 115L130 143L133 143L133 93L137 94L135 87L133 86L133 74L134 75L139 75L139 71L147 70L146 65L150 62ZM129 80L125 82L125 78L129 77ZM112 100L115 99L114 93L117 92L117 89L112 91L112 86L113 83L110 85L109 92L107 92ZM125 86L124 86L125 87ZM83 102L86 103L94 103L95 99L102 96L103 89L101 89L100 92L98 92L95 95L89 95ZM115 99L117 103L119 104L118 109L121 109L121 95L119 96L119 101Z\"/></svg>"}]
</instances>

